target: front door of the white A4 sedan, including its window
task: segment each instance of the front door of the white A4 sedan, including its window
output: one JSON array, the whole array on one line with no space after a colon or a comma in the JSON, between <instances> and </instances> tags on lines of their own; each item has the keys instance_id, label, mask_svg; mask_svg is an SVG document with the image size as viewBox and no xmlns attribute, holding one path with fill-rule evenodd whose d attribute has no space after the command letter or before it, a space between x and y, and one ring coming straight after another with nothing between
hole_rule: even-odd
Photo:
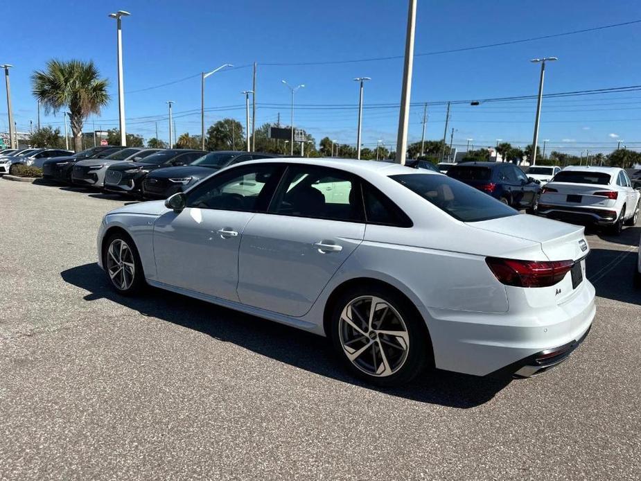
<instances>
[{"instance_id":1,"label":"front door of the white A4 sedan, including its window","mask_svg":"<svg viewBox=\"0 0 641 481\"><path fill-rule=\"evenodd\" d=\"M158 280L170 286L238 301L238 247L247 222L264 211L278 169L238 167L210 177L186 193L186 208L154 225ZM272 182L270 182L272 181Z\"/></svg>"}]
</instances>

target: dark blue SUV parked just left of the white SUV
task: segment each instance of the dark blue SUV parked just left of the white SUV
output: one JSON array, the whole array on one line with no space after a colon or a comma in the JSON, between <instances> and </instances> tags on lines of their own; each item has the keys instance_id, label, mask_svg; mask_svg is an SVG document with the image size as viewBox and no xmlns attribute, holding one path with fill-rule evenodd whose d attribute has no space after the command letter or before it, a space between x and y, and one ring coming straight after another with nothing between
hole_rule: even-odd
<instances>
[{"instance_id":1,"label":"dark blue SUV parked just left of the white SUV","mask_svg":"<svg viewBox=\"0 0 641 481\"><path fill-rule=\"evenodd\" d=\"M515 209L534 212L538 206L541 185L509 162L464 162L450 167L447 175Z\"/></svg>"}]
</instances>

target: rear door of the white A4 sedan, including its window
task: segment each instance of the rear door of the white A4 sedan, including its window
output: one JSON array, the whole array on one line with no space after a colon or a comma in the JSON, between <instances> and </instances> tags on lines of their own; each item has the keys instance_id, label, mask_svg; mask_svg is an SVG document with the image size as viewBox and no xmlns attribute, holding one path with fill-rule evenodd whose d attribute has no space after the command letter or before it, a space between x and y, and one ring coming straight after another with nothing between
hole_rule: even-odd
<instances>
[{"instance_id":1,"label":"rear door of the white A4 sedan, including its window","mask_svg":"<svg viewBox=\"0 0 641 481\"><path fill-rule=\"evenodd\" d=\"M243 231L240 301L284 315L306 314L364 235L358 177L290 165L268 212L256 213Z\"/></svg>"}]
</instances>

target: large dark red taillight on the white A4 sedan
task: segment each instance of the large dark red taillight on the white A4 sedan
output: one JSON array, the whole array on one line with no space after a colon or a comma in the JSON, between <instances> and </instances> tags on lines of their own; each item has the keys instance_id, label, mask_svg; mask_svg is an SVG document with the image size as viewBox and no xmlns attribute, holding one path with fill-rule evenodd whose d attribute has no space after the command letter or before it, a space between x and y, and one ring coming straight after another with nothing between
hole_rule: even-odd
<instances>
[{"instance_id":1,"label":"large dark red taillight on the white A4 sedan","mask_svg":"<svg viewBox=\"0 0 641 481\"><path fill-rule=\"evenodd\" d=\"M488 267L500 283L515 287L549 287L561 281L574 261L517 261L487 257Z\"/></svg>"}]
</instances>

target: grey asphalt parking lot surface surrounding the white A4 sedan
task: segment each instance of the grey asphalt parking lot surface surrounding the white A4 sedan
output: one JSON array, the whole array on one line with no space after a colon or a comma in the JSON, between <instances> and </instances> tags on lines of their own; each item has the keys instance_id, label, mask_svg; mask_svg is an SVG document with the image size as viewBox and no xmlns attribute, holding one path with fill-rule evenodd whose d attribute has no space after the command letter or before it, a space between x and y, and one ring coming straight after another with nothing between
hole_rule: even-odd
<instances>
[{"instance_id":1,"label":"grey asphalt parking lot surface surrounding the white A4 sedan","mask_svg":"<svg viewBox=\"0 0 641 481\"><path fill-rule=\"evenodd\" d=\"M322 338L115 295L96 230L124 202L0 180L0 479L640 478L640 226L588 235L597 317L560 367L383 391Z\"/></svg>"}]
</instances>

